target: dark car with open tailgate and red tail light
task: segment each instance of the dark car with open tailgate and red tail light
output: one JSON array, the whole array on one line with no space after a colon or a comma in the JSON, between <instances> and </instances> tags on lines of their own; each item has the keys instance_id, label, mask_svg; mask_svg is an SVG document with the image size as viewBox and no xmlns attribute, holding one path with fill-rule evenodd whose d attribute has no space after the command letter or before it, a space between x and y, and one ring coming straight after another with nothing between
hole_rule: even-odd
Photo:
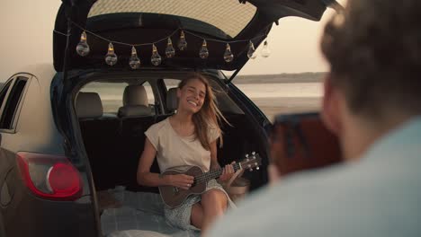
<instances>
[{"instance_id":1,"label":"dark car with open tailgate and red tail light","mask_svg":"<svg viewBox=\"0 0 421 237\"><path fill-rule=\"evenodd\" d=\"M264 186L272 124L232 80L273 22L286 16L318 21L327 7L338 4L63 0L53 65L22 68L0 92L0 235L111 233L101 193L116 187L157 192L136 180L144 132L174 113L174 88L193 72L210 80L229 122L222 127L219 162L259 154L260 169L244 177L251 190ZM168 39L187 46L168 53ZM227 77L224 70L234 73Z\"/></svg>"}]
</instances>

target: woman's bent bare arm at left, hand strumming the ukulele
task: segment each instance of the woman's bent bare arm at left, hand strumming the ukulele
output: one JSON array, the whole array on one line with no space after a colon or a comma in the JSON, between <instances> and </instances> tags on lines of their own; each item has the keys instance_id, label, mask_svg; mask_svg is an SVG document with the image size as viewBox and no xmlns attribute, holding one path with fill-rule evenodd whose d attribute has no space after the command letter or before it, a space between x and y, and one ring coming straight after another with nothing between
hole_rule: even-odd
<instances>
[{"instance_id":1,"label":"woman's bent bare arm at left, hand strumming the ukulele","mask_svg":"<svg viewBox=\"0 0 421 237\"><path fill-rule=\"evenodd\" d=\"M138 183L143 186L176 186L182 189L188 189L193 184L193 177L184 174L176 175L160 175L159 173L150 172L152 162L154 162L157 150L150 143L148 137L145 140L145 148L140 156L138 166Z\"/></svg>"}]
</instances>

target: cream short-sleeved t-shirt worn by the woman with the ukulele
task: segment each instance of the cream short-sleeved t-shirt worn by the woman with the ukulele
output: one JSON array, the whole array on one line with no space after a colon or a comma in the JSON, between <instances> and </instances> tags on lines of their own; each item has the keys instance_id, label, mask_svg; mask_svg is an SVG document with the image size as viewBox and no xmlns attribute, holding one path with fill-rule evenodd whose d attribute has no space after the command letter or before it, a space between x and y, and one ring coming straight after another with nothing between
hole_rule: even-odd
<instances>
[{"instance_id":1,"label":"cream short-sleeved t-shirt worn by the woman with the ukulele","mask_svg":"<svg viewBox=\"0 0 421 237\"><path fill-rule=\"evenodd\" d=\"M210 151L203 148L195 136L180 136L169 122L169 118L152 125L145 132L150 143L157 150L157 162L161 172L181 165L196 165L207 172L210 169ZM210 142L219 137L219 130L210 128Z\"/></svg>"}]
</instances>

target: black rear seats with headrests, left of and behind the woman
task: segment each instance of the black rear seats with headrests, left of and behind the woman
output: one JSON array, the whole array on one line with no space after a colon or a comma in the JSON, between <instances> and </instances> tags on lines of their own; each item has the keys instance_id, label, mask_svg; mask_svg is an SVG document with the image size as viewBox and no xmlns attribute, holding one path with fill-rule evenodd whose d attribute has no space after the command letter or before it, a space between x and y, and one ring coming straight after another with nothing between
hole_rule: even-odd
<instances>
[{"instance_id":1,"label":"black rear seats with headrests, left of and behind the woman","mask_svg":"<svg viewBox=\"0 0 421 237\"><path fill-rule=\"evenodd\" d=\"M126 186L131 191L158 192L157 188L141 187L137 182L140 155L143 152L148 127L171 116L178 106L176 88L166 96L166 115L153 115L147 106L147 94L143 86L130 85L124 91L124 106L120 118L104 118L103 105L97 93L79 92L76 113L89 157L96 189L112 189ZM160 172L155 160L151 172Z\"/></svg>"}]
</instances>

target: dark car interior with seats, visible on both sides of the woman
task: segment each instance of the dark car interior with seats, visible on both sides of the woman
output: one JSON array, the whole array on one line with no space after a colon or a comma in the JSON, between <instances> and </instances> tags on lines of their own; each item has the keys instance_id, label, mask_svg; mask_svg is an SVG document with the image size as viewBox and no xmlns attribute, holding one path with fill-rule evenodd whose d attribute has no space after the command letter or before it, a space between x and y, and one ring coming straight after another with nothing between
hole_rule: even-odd
<instances>
[{"instance_id":1,"label":"dark car interior with seats, visible on both sides of the woman","mask_svg":"<svg viewBox=\"0 0 421 237\"><path fill-rule=\"evenodd\" d=\"M180 78L174 81L178 82ZM103 101L97 92L78 92L76 114L94 176L96 190L124 186L130 191L158 192L157 188L139 186L136 179L140 154L145 143L145 131L159 121L171 116L177 107L176 88L158 89L163 77L142 79L102 79L98 82L127 83L121 101L123 105L115 113L103 112ZM210 80L216 92L216 100L229 124L222 123L223 145L218 148L221 165L239 161L259 149L260 144L246 114L232 101L219 83ZM144 84L150 84L155 104L148 102ZM157 161L151 167L159 172ZM251 189L264 184L261 171L245 172L243 177L251 181Z\"/></svg>"}]
</instances>

